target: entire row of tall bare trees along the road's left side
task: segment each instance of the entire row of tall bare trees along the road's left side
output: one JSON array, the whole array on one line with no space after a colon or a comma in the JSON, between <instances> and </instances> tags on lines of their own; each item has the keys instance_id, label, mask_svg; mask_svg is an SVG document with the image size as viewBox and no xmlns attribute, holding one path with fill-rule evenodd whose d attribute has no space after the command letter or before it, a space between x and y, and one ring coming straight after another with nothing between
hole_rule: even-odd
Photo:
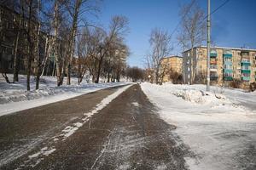
<instances>
[{"instance_id":1,"label":"entire row of tall bare trees along the road's left side","mask_svg":"<svg viewBox=\"0 0 256 170\"><path fill-rule=\"evenodd\" d=\"M1 8L15 15L9 19L11 28L2 26L2 20L0 23L0 40L10 36L15 43L14 82L19 81L20 56L24 56L26 65L27 90L32 74L36 76L36 89L39 88L50 58L55 63L57 86L63 84L64 77L70 85L73 74L79 77L80 83L88 72L96 83L101 77L108 82L119 81L129 55L125 44L128 20L114 16L108 29L90 24L88 18L97 15L98 3L96 0L1 0ZM1 72L6 76L2 67Z\"/></svg>"}]
</instances>

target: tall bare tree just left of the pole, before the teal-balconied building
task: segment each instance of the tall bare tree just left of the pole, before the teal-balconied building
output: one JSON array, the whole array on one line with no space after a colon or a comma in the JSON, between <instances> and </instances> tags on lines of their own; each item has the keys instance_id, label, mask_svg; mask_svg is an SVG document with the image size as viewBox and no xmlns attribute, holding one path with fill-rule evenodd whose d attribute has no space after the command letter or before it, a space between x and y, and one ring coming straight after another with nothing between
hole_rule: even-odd
<instances>
[{"instance_id":1,"label":"tall bare tree just left of the pole, before the teal-balconied building","mask_svg":"<svg viewBox=\"0 0 256 170\"><path fill-rule=\"evenodd\" d=\"M204 11L199 7L195 1L184 4L180 9L180 16L182 18L181 31L177 37L178 42L182 45L183 50L191 49L189 59L183 59L183 64L187 65L189 60L189 68L195 67L195 46L201 45L206 39L206 22L204 22ZM192 64L193 63L193 64ZM184 67L185 68L185 67ZM195 68L193 68L195 69ZM191 82L195 78L195 71L192 71Z\"/></svg>"}]
</instances>

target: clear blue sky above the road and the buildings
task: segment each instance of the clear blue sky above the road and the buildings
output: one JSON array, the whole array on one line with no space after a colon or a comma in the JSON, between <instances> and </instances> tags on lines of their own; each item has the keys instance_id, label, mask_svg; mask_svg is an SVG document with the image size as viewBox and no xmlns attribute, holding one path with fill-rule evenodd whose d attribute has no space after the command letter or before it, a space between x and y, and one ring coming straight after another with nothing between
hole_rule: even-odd
<instances>
[{"instance_id":1,"label":"clear blue sky above the road and the buildings","mask_svg":"<svg viewBox=\"0 0 256 170\"><path fill-rule=\"evenodd\" d=\"M225 0L212 0L212 10ZM149 35L154 27L174 30L179 22L179 7L189 0L103 0L98 22L108 26L113 15L125 15L129 19L130 33L126 42L131 50L129 65L143 67L144 56L149 49ZM207 12L207 0L198 0ZM172 54L180 54L177 35L173 35ZM230 0L212 15L212 39L217 46L240 48L244 45L256 48L256 1Z\"/></svg>"}]
</instances>

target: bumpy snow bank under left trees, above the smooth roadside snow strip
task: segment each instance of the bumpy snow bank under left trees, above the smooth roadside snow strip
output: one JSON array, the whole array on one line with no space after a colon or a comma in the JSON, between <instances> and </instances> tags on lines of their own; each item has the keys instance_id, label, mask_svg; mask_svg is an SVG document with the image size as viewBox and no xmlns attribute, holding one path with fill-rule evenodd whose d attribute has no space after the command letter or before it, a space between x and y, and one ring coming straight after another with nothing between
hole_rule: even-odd
<instances>
[{"instance_id":1,"label":"bumpy snow bank under left trees, above the smooth roadside snow strip","mask_svg":"<svg viewBox=\"0 0 256 170\"><path fill-rule=\"evenodd\" d=\"M77 80L73 78L73 80ZM6 83L0 79L0 105L7 104L9 102L19 102L32 99L45 98L57 94L80 94L85 90L110 88L116 85L126 84L125 82L109 82L109 83L82 83L77 85L77 81L73 81L72 85L63 85L56 87L55 77L42 77L40 81L40 89L35 90L35 81L32 78L31 91L26 91L26 77L20 76L20 82Z\"/></svg>"}]
</instances>

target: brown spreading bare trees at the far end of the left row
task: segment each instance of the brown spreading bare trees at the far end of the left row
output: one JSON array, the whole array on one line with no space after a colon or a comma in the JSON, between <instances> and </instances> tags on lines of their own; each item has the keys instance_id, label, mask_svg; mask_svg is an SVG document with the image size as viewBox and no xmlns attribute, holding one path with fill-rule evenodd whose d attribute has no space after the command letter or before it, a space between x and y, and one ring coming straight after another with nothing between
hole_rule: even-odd
<instances>
[{"instance_id":1,"label":"brown spreading bare trees at the far end of the left row","mask_svg":"<svg viewBox=\"0 0 256 170\"><path fill-rule=\"evenodd\" d=\"M129 55L129 49L124 42L127 31L127 18L114 16L107 31L99 27L86 27L79 32L79 83L82 82L86 71L90 72L93 82L98 83L100 77L106 79L106 82L119 82Z\"/></svg>"}]
</instances>

